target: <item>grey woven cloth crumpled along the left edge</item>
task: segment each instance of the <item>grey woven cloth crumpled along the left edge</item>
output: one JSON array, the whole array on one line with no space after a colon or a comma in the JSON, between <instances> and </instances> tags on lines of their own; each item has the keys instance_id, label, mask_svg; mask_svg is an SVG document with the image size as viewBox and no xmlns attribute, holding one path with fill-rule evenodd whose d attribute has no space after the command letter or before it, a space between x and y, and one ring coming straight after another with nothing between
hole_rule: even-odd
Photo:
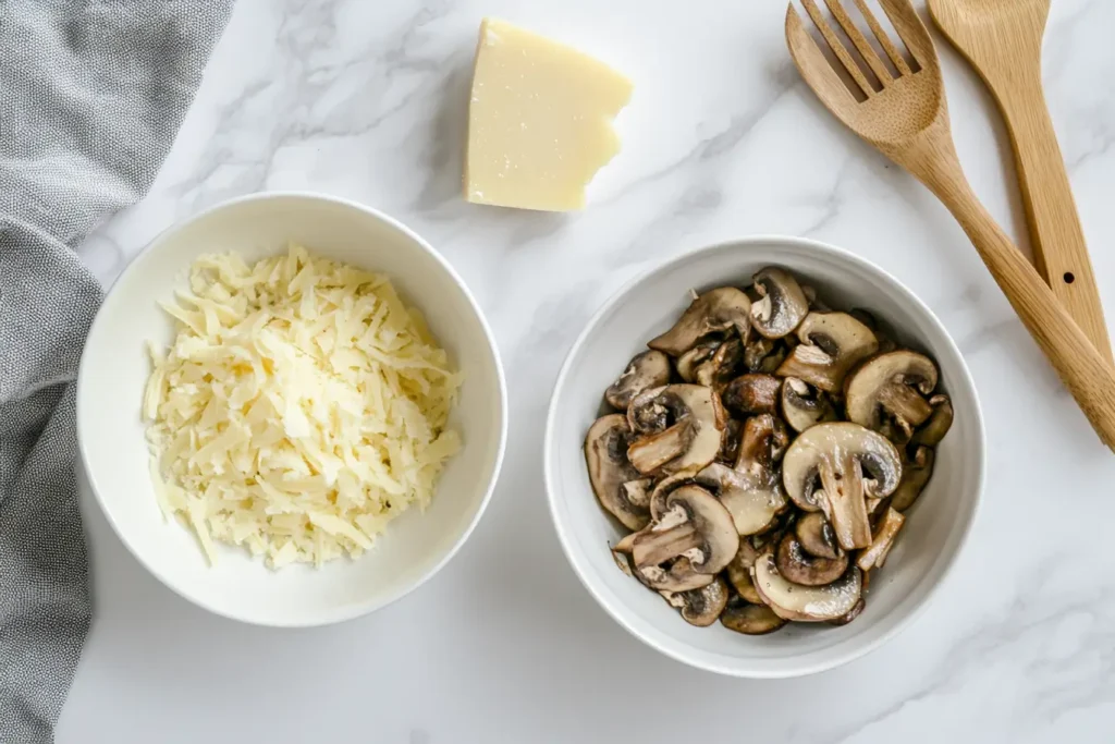
<instances>
[{"instance_id":1,"label":"grey woven cloth crumpled along the left edge","mask_svg":"<svg viewBox=\"0 0 1115 744\"><path fill-rule=\"evenodd\" d=\"M151 185L232 0L0 0L0 742L54 738L89 626L72 249Z\"/></svg>"}]
</instances>

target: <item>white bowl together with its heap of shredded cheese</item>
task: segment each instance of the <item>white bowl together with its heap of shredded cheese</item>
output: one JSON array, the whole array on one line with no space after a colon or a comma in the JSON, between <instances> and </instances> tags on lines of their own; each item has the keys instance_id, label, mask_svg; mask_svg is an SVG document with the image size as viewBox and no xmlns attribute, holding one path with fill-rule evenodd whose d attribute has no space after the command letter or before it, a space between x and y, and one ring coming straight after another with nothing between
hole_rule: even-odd
<instances>
[{"instance_id":1,"label":"white bowl together with its heap of shredded cheese","mask_svg":"<svg viewBox=\"0 0 1115 744\"><path fill-rule=\"evenodd\" d=\"M349 619L425 582L479 520L506 442L498 352L460 278L390 218L312 194L158 236L109 291L77 398L125 545L260 625Z\"/></svg>"}]
</instances>

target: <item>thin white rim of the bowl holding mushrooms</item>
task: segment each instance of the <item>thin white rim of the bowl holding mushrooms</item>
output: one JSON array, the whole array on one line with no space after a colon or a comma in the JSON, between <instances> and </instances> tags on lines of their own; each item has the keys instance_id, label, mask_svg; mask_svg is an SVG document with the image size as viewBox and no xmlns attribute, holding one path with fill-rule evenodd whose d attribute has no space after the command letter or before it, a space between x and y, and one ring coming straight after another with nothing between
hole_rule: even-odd
<instances>
[{"instance_id":1,"label":"thin white rim of the bowl holding mushrooms","mask_svg":"<svg viewBox=\"0 0 1115 744\"><path fill-rule=\"evenodd\" d=\"M976 407L975 410L972 412L972 415L976 423L976 431L978 433L976 442L977 446L973 447L975 450L978 450L978 460L976 463L978 481L977 481L976 492L972 499L973 503L971 508L971 516L961 528L961 533L959 539L957 540L956 550L952 552L950 557L946 559L946 562L942 566L941 573L938 577L937 581L933 582L927 589L925 593L921 597L920 600L918 600L911 607L911 609L906 612L904 617L900 618L896 622L894 622L889 628L884 629L882 632L870 636L864 642L860 644L859 646L849 647L840 653L832 654L831 658L828 659L820 660L807 665L791 666L784 669L779 668L779 669L753 670L746 668L738 668L734 666L727 666L723 664L715 664L706 661L704 659L691 658L681 650L671 648L668 645L660 644L657 642L657 640L655 639L648 638L638 629L632 627L632 625L628 622L628 620L623 617L623 615L615 607L613 607L608 600L605 600L605 598L601 595L601 592L593 586L593 583L590 581L590 579L585 576L584 571L582 570L582 567L580 566L579 562L580 559L574 557L575 551L572 548L572 538L568 534L568 532L572 530L572 526L565 524L559 516L558 494L555 486L556 475L554 472L556 467L555 465L556 435L554 429L556 428L558 403L564 393L566 378L570 375L570 371L572 370L572 363L574 357L576 357L578 352L581 350L581 347L588 340L589 335L595 330L601 319L609 312L611 312L614 307L620 305L636 287L650 280L651 278L658 274L668 272L675 269L676 267L685 264L686 262L691 261L700 255L715 253L717 251L724 251L731 248L746 249L759 245L763 247L793 245L798 249L805 249L806 251L827 254L828 257L834 258L838 261L844 261L854 264L857 269L866 270L869 273L874 272L875 274L890 281L895 288L898 288L904 296L906 296L908 299L911 300L913 309L921 312L925 318L929 319L929 321L933 326L937 327L937 330L940 331L947 347L954 354L956 358L959 359L960 361L957 373L961 380L961 384L966 385L972 392L973 398L976 400ZM845 664L849 664L850 661L854 661L855 659L866 656L867 654L882 647L891 639L898 637L899 634L909 628L914 622L914 620L917 620L922 615L922 612L925 611L925 609L930 605L930 601L940 590L941 586L944 584L946 580L956 568L957 560L963 552L964 547L968 544L968 541L971 537L972 528L977 519L979 518L980 504L982 503L983 491L986 490L987 485L987 431L983 424L983 412L982 412L982 404L980 403L979 399L979 390L976 387L976 383L971 376L971 370L968 368L967 360L964 359L959 347L957 346L956 340L952 338L952 335L949 334L948 328L946 328L944 323L941 322L940 318L937 317L937 313L934 313L933 310L928 305L925 305L925 302L920 297L918 297L918 294L913 290L911 290L909 287L905 286L905 283L903 283L901 280L899 280L896 277L894 277L892 273L890 273L882 267L878 265L876 263L861 255L852 253L846 249L838 248L831 243L813 240L811 238L796 238L793 235L779 235L779 234L746 235L743 238L724 240L717 243L712 243L710 245L704 245L701 248L685 251L679 255L666 259L659 263L656 263L649 269L646 269L637 273L632 279L630 279L624 284L622 284L618 290L615 290L611 294L611 297L609 297L600 306L600 308L592 315L592 317L585 323L584 328L578 335L576 340L573 341L572 346L570 347L569 351L565 355L565 359L562 363L561 369L558 373L558 377L554 381L553 393L551 394L550 397L550 405L547 406L546 409L546 427L542 446L543 446L543 479L545 481L546 500L549 502L550 516L551 520L553 521L554 530L558 532L558 541L561 543L562 552L564 552L566 561L573 568L573 573L576 574L578 580L580 580L581 584L584 586L584 588L589 591L589 593L597 601L597 603L600 605L600 607L603 608L603 610L609 616L611 616L611 618L629 634L641 640L647 646L650 646L655 650L659 651L660 654L671 659L675 659L676 661L680 661L694 668L704 669L706 671L712 671L715 674L720 674L729 677L750 678L750 679L784 679L791 677L804 677L813 674L818 674L821 671L827 671L828 669L843 666Z\"/></svg>"}]
</instances>

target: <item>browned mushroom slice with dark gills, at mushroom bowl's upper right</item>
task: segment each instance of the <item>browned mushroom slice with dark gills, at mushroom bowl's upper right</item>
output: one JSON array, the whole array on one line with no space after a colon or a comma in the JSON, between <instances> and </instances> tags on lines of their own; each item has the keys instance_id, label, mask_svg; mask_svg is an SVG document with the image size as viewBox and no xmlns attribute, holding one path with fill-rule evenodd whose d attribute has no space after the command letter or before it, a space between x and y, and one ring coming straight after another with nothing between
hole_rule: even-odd
<instances>
[{"instance_id":1,"label":"browned mushroom slice with dark gills, at mushroom bowl's upper right","mask_svg":"<svg viewBox=\"0 0 1115 744\"><path fill-rule=\"evenodd\" d=\"M933 408L923 396L937 387L937 366L923 354L901 350L880 354L864 363L846 383L849 421L882 431L892 418L903 441L921 426Z\"/></svg>"}]
</instances>

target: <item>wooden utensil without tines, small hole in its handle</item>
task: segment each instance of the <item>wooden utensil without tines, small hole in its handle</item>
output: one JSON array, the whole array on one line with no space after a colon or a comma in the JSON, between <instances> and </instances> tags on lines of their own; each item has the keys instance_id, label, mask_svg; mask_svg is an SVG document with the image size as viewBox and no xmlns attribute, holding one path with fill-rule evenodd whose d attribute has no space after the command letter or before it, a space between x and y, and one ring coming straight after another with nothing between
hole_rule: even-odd
<instances>
[{"instance_id":1,"label":"wooden utensil without tines, small hole in its handle","mask_svg":"<svg viewBox=\"0 0 1115 744\"><path fill-rule=\"evenodd\" d=\"M991 89L1015 147L1038 273L1107 359L1111 340L1065 161L1041 90L1050 0L929 0L929 11Z\"/></svg>"}]
</instances>

